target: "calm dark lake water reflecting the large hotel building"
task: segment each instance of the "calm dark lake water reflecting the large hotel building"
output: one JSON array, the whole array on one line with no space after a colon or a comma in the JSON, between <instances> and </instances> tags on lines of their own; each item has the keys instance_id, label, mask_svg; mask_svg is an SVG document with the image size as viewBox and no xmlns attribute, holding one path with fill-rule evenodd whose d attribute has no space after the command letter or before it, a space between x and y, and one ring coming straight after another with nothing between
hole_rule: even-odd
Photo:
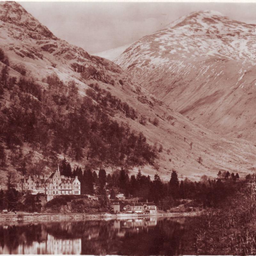
<instances>
[{"instance_id":1,"label":"calm dark lake water reflecting the large hotel building","mask_svg":"<svg viewBox=\"0 0 256 256\"><path fill-rule=\"evenodd\" d=\"M1 254L194 254L188 219L15 223L0 226Z\"/></svg>"}]
</instances>

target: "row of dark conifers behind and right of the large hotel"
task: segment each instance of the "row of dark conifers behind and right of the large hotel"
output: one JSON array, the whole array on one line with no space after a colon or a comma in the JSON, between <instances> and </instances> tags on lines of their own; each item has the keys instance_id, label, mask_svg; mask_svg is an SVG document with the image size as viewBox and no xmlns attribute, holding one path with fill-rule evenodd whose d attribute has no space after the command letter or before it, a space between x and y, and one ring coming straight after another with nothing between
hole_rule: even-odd
<instances>
[{"instance_id":1,"label":"row of dark conifers behind and right of the large hotel","mask_svg":"<svg viewBox=\"0 0 256 256\"><path fill-rule=\"evenodd\" d=\"M66 171L68 170L68 172ZM62 175L75 177L81 182L81 194L105 195L106 189L110 190L110 198L115 199L116 193L124 193L126 197L138 197L142 201L154 201L161 209L179 205L183 199L191 199L197 206L216 207L225 197L233 193L236 185L225 183L221 180L211 180L206 175L200 181L178 179L178 173L172 170L169 182L161 180L158 174L154 179L142 175L139 170L137 175L129 177L128 170L121 168L106 175L100 169L99 175L91 169L77 167L71 170L70 164L64 159L61 163Z\"/></svg>"}]
</instances>

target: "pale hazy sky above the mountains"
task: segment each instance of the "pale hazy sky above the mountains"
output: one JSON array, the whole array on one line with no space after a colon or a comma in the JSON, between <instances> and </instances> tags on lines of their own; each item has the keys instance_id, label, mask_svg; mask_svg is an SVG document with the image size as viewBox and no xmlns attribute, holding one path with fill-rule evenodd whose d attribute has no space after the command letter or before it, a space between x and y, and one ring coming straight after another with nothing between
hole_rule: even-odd
<instances>
[{"instance_id":1,"label":"pale hazy sky above the mountains","mask_svg":"<svg viewBox=\"0 0 256 256\"><path fill-rule=\"evenodd\" d=\"M256 24L255 3L19 2L52 33L97 53L137 41L190 12L214 10Z\"/></svg>"}]
</instances>

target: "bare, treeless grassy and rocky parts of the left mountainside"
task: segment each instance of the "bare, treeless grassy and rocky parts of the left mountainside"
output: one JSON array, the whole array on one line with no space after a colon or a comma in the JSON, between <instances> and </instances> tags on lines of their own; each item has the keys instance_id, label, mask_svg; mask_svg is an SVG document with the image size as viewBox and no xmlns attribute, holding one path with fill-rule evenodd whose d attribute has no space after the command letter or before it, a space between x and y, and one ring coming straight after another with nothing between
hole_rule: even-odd
<instances>
[{"instance_id":1,"label":"bare, treeless grassy and rocky parts of the left mountainside","mask_svg":"<svg viewBox=\"0 0 256 256\"><path fill-rule=\"evenodd\" d=\"M1 13L6 12L6 10L12 10L12 8L9 8L9 5L13 5L13 3L0 3ZM16 3L14 6L18 8ZM29 22L30 16L28 13L22 12L22 15L26 16L22 19L27 19ZM131 174L136 173L138 168L141 168L141 172L146 175L153 177L157 172L163 180L169 180L172 169L175 169L184 177L198 180L203 174L214 177L219 170L229 170L230 172L247 174L256 168L254 165L256 147L253 143L241 139L231 141L222 138L220 135L206 129L202 125L194 123L166 106L164 102L141 87L132 76L128 75L113 62L92 56L82 48L70 45L66 41L55 38L54 36L52 36L52 39L48 38L46 40L45 36L42 35L42 37L40 37L40 33L36 32L38 36L32 38L26 26L19 27L18 25L5 22L1 19L0 26L1 47L9 58L10 63L8 68L11 76L15 76L17 79L22 78L21 71L23 68L23 72L24 69L26 71L26 76L31 77L31 79L33 78L34 82L40 86L43 92L47 92L48 90L48 93L54 93L56 91L55 94L57 96L58 90L64 93L66 90L69 90L68 88L72 89L72 86L68 87L68 84L74 81L79 92L79 97L74 98L75 101L77 100L77 102L79 102L79 100L83 99L82 97L88 97L92 100L93 106L100 108L110 120L116 121L118 124L124 123L129 125L131 131L134 131L136 134L142 132L150 146L153 147L156 144L157 150L159 150L160 144L162 145L162 152L157 152L158 158L153 165L145 164L136 166L130 170ZM38 28L41 28L40 26L42 25L38 25ZM5 67L5 63L0 62L0 66L2 70ZM52 79L52 75L54 75L55 80ZM54 81L53 84L51 83L52 80ZM63 82L61 82L61 80ZM49 87L49 83L52 84L51 90L49 90L49 88L51 88ZM16 104L24 113L26 113L26 111L28 112L28 106L24 103L23 105L20 104L23 98L20 99L17 93L20 92L23 86L22 84L19 85L16 83L14 86L16 91L4 87L4 94L0 100L0 113L1 117L3 117L2 120L5 120L4 122L10 121L10 116L6 115L4 112L9 111L10 106ZM22 96L34 99L36 104L46 111L47 103L42 104L44 101L40 101L38 98L35 99L35 96L31 94L30 91L22 91ZM103 97L103 94L101 95L102 92L104 92L103 94L108 98ZM71 112L71 110L73 111L72 108L68 110L66 109L66 103L61 103L62 100L65 102L65 97L59 98L55 94L46 94L47 97L52 97L51 102L53 105L49 105L49 113L56 113L54 115L58 117L52 119L52 123L50 123L51 125L49 126L51 129L56 125L59 125L60 128L62 125L65 126L65 117L69 115L68 118L70 118L73 113ZM47 97L42 96L46 100L45 102L48 102ZM129 109L132 108L138 117L132 119L129 117L127 111L125 112L121 108L117 110L111 108L110 102L113 100L114 96L117 101L120 100L122 104L127 103ZM61 107L60 104L64 105ZM71 106L73 105L71 104ZM125 104L124 106L127 108ZM7 110L4 110L4 108L7 108ZM49 116L44 114L44 116L45 117L42 119L47 121L50 114ZM144 116L145 119L143 119L142 116ZM92 117L96 118L96 116ZM140 118L142 118L142 120L140 120ZM156 122L154 122L155 119ZM76 127L72 127L72 129L75 128ZM53 134L52 138L58 138L54 135L54 132L58 132L58 129L50 131ZM38 134L40 135L40 132L38 132ZM1 135L2 141L5 141L6 138L4 138L3 134ZM25 136L26 134L22 133L21 135ZM71 134L69 134L69 136L70 135ZM48 156L46 156L44 150L40 149L41 145L29 143L23 140L23 137L21 137L21 139L22 146L18 148L22 153L22 157L28 157L30 151L32 154L31 163L29 161L26 162L28 172L34 169L39 170L39 166L40 172L49 173L51 168L56 166L56 161L59 161L64 156L70 161L72 167L76 167L77 165L84 166L90 161L90 159L89 161L86 159L85 151L88 150L88 148L85 145L84 148L81 148L83 155L82 160L76 161L72 157L69 157L64 151L57 153L53 150L51 151L51 154L54 155L53 159L49 160L50 164L45 164L44 161L46 161L45 159L47 159ZM58 141L51 141L51 143L54 146L58 146ZM15 172L18 174L20 173L18 170L22 166L20 166L20 160L17 162L13 161L12 152L7 148L6 143L1 142L1 145L6 153L6 165L1 167L1 179L2 182L4 182L6 172L16 170ZM70 150L70 148L68 148L68 150ZM22 160L25 159L23 158ZM97 161L99 162L100 159ZM112 171L109 166L101 167L106 167L107 172Z\"/></svg>"}]
</instances>

